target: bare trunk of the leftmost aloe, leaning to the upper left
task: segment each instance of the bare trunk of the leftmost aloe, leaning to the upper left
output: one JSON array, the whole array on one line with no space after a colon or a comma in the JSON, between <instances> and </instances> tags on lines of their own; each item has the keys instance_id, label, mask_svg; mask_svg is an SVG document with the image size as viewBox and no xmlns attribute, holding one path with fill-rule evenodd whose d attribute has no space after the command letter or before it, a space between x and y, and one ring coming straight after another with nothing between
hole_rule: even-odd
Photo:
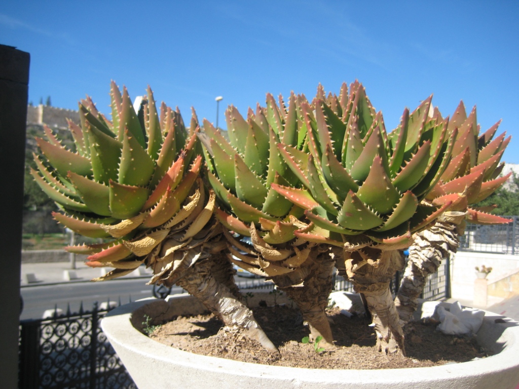
<instances>
[{"instance_id":1,"label":"bare trunk of the leftmost aloe, leaning to the upper left","mask_svg":"<svg viewBox=\"0 0 519 389\"><path fill-rule=\"evenodd\" d=\"M233 280L230 262L221 255L197 261L176 281L176 285L198 298L229 328L260 342L265 349L277 353L276 346L256 322L252 311L243 304Z\"/></svg>"}]
</instances>

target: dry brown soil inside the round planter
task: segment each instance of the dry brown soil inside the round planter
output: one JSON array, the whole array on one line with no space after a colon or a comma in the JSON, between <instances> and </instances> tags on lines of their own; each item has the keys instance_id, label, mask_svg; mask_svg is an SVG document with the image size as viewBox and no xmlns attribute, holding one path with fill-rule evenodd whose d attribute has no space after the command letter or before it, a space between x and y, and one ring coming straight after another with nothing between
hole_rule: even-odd
<instances>
[{"instance_id":1,"label":"dry brown soil inside the round planter","mask_svg":"<svg viewBox=\"0 0 519 389\"><path fill-rule=\"evenodd\" d=\"M179 316L163 324L151 338L195 354L242 362L316 369L395 369L467 362L489 354L474 338L453 337L436 331L436 324L414 322L405 328L407 357L376 351L375 334L365 317L346 317L329 311L336 348L316 352L312 343L302 343L308 327L296 309L288 306L253 308L254 316L280 354L272 355L256 341L222 328L212 314Z\"/></svg>"}]
</instances>

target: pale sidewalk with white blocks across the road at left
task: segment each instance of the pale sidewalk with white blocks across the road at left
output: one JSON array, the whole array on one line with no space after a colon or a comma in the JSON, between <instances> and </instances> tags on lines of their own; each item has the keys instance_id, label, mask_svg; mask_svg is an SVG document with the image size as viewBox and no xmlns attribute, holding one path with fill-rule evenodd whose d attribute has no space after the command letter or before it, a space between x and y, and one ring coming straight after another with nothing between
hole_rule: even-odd
<instances>
[{"instance_id":1,"label":"pale sidewalk with white blocks across the road at left","mask_svg":"<svg viewBox=\"0 0 519 389\"><path fill-rule=\"evenodd\" d=\"M65 282L89 282L91 279L102 275L102 270L110 271L110 268L90 268L82 261L76 262L76 269L71 268L70 262L35 262L22 263L21 287L47 284L60 284ZM120 277L149 278L152 272L141 266L136 271Z\"/></svg>"}]
</instances>

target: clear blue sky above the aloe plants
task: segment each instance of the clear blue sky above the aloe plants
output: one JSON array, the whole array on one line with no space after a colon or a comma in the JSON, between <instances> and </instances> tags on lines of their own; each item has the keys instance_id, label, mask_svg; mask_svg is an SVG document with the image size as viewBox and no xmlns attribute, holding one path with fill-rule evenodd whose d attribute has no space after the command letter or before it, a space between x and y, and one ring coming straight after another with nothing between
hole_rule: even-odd
<instances>
[{"instance_id":1,"label":"clear blue sky above the aloe plants","mask_svg":"<svg viewBox=\"0 0 519 389\"><path fill-rule=\"evenodd\" d=\"M396 4L396 5L394 5ZM149 84L188 119L215 121L215 97L245 113L265 94L338 92L355 79L386 127L434 94L443 115L460 100L486 130L516 137L519 163L519 2L192 1L0 4L0 43L31 53L29 100L108 113L110 80L130 96ZM186 118L187 117L187 118Z\"/></svg>"}]
</instances>

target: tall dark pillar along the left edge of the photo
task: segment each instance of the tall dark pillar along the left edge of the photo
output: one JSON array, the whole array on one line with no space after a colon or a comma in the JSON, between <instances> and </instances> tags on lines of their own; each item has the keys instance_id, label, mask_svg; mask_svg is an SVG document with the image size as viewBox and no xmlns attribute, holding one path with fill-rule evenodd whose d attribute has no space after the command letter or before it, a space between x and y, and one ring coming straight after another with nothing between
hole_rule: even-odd
<instances>
[{"instance_id":1,"label":"tall dark pillar along the left edge of the photo","mask_svg":"<svg viewBox=\"0 0 519 389\"><path fill-rule=\"evenodd\" d=\"M0 45L0 377L3 388L18 387L20 263L22 249L25 122L29 53Z\"/></svg>"}]
</instances>

